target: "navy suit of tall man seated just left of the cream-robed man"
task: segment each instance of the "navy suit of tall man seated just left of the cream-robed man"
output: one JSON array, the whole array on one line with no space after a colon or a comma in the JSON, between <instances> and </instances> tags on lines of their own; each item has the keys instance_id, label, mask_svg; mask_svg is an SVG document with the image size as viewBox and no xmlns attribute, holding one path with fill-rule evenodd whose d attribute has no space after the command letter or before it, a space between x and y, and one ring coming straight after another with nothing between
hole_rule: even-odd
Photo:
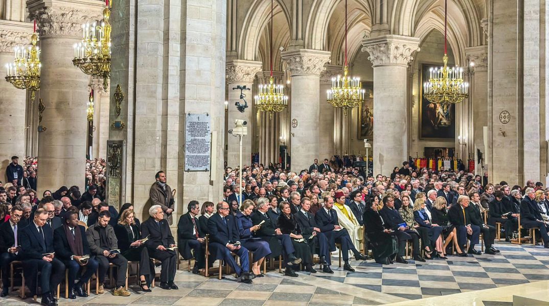
<instances>
[{"instance_id":1,"label":"navy suit of tall man seated just left of the cream-robed man","mask_svg":"<svg viewBox=\"0 0 549 306\"><path fill-rule=\"evenodd\" d=\"M334 230L335 226L339 226L338 214L330 209L329 213L322 207L315 214L315 221L318 225L318 229L326 235L328 238L328 244L330 251L335 251L335 243L341 244L341 254L345 262L349 261L349 250L355 255L359 252L356 250L355 245L352 244L349 232L343 227L341 230Z\"/></svg>"}]
</instances>

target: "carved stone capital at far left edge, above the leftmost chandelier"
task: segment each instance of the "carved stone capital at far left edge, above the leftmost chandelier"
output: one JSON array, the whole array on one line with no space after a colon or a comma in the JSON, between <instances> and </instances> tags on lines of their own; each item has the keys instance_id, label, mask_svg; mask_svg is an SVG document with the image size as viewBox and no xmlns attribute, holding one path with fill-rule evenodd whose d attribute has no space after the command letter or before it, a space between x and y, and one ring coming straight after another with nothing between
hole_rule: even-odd
<instances>
[{"instance_id":1,"label":"carved stone capital at far left edge, above the leftmost chandelier","mask_svg":"<svg viewBox=\"0 0 549 306\"><path fill-rule=\"evenodd\" d=\"M14 48L31 44L32 24L0 20L0 53L14 53Z\"/></svg>"}]
</instances>

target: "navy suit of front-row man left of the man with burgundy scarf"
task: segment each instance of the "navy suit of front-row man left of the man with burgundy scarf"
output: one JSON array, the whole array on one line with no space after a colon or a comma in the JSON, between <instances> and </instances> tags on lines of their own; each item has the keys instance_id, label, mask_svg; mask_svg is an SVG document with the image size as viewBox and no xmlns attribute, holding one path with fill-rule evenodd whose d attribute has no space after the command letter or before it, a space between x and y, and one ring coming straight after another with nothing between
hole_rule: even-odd
<instances>
[{"instance_id":1,"label":"navy suit of front-row man left of the man with burgundy scarf","mask_svg":"<svg viewBox=\"0 0 549 306\"><path fill-rule=\"evenodd\" d=\"M19 256L23 261L23 272L29 289L36 293L36 274L40 271L42 293L55 292L65 276L65 265L57 258L53 258L51 262L42 259L42 254L54 252L52 228L45 224L42 227L42 236L36 224L31 222L18 233L18 240L21 241Z\"/></svg>"}]
</instances>

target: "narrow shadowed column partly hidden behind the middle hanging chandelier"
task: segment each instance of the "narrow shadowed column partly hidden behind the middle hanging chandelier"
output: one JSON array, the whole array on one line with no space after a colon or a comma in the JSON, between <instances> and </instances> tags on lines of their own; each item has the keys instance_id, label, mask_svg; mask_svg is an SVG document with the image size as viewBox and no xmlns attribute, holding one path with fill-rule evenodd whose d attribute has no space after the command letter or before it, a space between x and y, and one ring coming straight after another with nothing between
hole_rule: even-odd
<instances>
[{"instance_id":1,"label":"narrow shadowed column partly hidden behind the middle hanging chandelier","mask_svg":"<svg viewBox=\"0 0 549 306\"><path fill-rule=\"evenodd\" d=\"M335 149L335 134L339 132L341 126L335 124L335 116L337 109L329 105L327 102L328 96L326 91L332 88L332 78L342 74L341 66L324 65L324 70L320 75L320 116L318 117L318 129L320 130L320 148L318 151L318 163L322 163L324 158L329 159L334 155Z\"/></svg>"}]
</instances>

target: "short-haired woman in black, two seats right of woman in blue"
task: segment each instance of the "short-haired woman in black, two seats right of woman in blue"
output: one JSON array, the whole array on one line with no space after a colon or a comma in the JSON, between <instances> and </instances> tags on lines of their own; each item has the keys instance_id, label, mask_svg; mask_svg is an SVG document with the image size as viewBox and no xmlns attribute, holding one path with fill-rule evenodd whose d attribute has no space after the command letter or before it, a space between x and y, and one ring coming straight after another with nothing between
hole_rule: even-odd
<instances>
[{"instance_id":1,"label":"short-haired woman in black, two seats right of woman in blue","mask_svg":"<svg viewBox=\"0 0 549 306\"><path fill-rule=\"evenodd\" d=\"M312 255L307 244L307 239L304 239L301 235L301 228L299 228L298 222L295 220L294 215L292 215L290 204L287 201L283 201L278 205L278 209L282 213L278 216L277 227L282 234L288 234L292 238L292 245L295 249L294 255L297 258L301 258L305 271L316 273L316 270L312 267ZM292 274L291 270L287 271L286 274Z\"/></svg>"}]
</instances>

